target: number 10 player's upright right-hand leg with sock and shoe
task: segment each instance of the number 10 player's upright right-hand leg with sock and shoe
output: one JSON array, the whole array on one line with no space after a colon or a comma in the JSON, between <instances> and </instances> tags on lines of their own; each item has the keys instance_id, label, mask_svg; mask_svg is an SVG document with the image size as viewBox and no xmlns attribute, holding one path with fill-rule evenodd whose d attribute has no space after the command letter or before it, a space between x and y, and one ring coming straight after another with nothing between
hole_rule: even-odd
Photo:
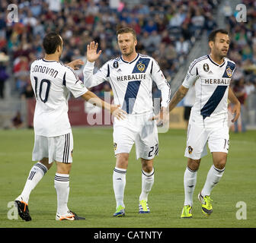
<instances>
[{"instance_id":1,"label":"number 10 player's upright right-hand leg with sock and shoe","mask_svg":"<svg viewBox=\"0 0 256 243\"><path fill-rule=\"evenodd\" d=\"M69 200L69 172L72 163L56 162L56 174L54 178L54 187L57 194L57 213L56 220L81 220L85 219L77 216L68 208Z\"/></svg>"}]
</instances>

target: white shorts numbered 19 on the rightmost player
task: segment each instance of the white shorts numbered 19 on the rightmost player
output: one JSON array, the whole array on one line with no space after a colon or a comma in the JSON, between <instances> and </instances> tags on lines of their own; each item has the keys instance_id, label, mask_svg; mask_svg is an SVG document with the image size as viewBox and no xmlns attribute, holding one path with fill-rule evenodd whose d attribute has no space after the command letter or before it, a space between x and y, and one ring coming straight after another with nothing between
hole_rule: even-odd
<instances>
[{"instance_id":1,"label":"white shorts numbered 19 on the rightmost player","mask_svg":"<svg viewBox=\"0 0 256 243\"><path fill-rule=\"evenodd\" d=\"M210 152L229 152L229 128L202 128L195 123L187 127L187 147L184 156L201 159L207 155L206 144Z\"/></svg>"}]
</instances>

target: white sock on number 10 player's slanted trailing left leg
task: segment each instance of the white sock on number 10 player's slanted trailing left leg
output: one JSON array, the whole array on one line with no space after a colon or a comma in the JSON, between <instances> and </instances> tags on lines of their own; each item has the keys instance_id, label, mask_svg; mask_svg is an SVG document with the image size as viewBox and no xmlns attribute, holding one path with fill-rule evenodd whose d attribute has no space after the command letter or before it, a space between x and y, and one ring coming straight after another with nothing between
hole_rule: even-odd
<instances>
[{"instance_id":1,"label":"white sock on number 10 player's slanted trailing left leg","mask_svg":"<svg viewBox=\"0 0 256 243\"><path fill-rule=\"evenodd\" d=\"M26 184L23 191L21 192L21 197L25 203L28 204L31 191L36 187L41 178L43 178L43 175L46 174L47 170L47 167L40 162L35 163L34 166L30 169Z\"/></svg>"}]
</instances>

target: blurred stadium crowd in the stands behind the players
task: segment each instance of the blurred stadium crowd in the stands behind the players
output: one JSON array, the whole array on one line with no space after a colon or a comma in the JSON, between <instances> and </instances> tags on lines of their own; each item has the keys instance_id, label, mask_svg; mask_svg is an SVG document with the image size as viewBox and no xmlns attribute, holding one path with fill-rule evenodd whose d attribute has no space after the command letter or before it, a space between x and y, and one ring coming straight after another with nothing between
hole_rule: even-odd
<instances>
[{"instance_id":1,"label":"blurred stadium crowd in the stands behind the players","mask_svg":"<svg viewBox=\"0 0 256 243\"><path fill-rule=\"evenodd\" d=\"M96 66L101 67L120 55L116 30L129 25L136 30L138 52L152 55L171 81L200 34L217 27L214 13L221 0L147 0L131 8L122 2L114 7L111 2L114 1L1 1L0 99L8 77L14 80L12 91L25 98L34 96L30 87L30 63L43 57L42 39L50 31L60 33L64 40L64 63L85 58L87 44L97 41L103 53ZM237 84L238 90L241 91L241 85L245 90L241 100L255 92L256 83L256 3L242 2L247 6L245 23L237 23L229 2L222 9L232 38L229 58L237 63L233 84ZM18 23L6 21L11 3L18 5ZM82 71L79 75L83 79ZM104 90L110 87L102 84L93 91L101 96Z\"/></svg>"}]
</instances>

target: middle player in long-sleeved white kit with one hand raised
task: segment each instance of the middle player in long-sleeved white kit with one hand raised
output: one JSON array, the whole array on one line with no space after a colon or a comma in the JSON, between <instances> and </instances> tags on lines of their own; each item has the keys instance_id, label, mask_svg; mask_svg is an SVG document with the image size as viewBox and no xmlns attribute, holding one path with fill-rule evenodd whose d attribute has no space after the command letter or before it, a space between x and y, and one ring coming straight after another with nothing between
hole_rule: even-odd
<instances>
[{"instance_id":1,"label":"middle player in long-sleeved white kit with one hand raised","mask_svg":"<svg viewBox=\"0 0 256 243\"><path fill-rule=\"evenodd\" d=\"M168 106L171 90L158 63L147 55L136 52L136 33L130 27L117 30L117 43L121 55L106 62L93 75L94 62L101 55L98 43L90 43L84 68L85 86L90 88L108 81L114 93L114 103L127 112L123 121L114 120L114 153L116 166L113 187L117 202L114 216L125 215L123 194L126 170L133 144L136 158L142 163L142 192L139 196L139 213L149 213L148 195L154 183L153 159L158 155L158 131L153 117L152 80L162 91L162 110Z\"/></svg>"}]
</instances>

